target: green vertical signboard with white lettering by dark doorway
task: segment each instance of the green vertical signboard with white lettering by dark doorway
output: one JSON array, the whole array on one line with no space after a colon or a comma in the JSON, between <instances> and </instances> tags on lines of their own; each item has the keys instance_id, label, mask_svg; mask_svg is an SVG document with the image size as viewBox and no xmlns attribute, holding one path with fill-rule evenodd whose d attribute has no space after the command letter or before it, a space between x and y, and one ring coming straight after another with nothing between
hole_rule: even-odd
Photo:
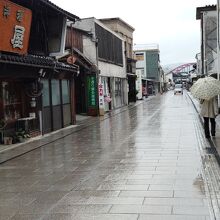
<instances>
[{"instance_id":1,"label":"green vertical signboard with white lettering by dark doorway","mask_svg":"<svg viewBox=\"0 0 220 220\"><path fill-rule=\"evenodd\" d=\"M97 81L96 75L87 76L88 114L97 115Z\"/></svg>"}]
</instances>

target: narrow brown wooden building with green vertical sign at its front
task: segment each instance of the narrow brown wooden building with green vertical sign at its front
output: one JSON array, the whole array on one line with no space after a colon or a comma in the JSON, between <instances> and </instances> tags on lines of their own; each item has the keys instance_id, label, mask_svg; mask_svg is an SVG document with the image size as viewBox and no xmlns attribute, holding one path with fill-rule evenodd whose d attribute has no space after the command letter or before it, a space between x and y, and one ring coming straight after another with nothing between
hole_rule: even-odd
<instances>
[{"instance_id":1,"label":"narrow brown wooden building with green vertical sign at its front","mask_svg":"<svg viewBox=\"0 0 220 220\"><path fill-rule=\"evenodd\" d=\"M65 55L59 60L67 64L79 66L79 72L74 75L75 80L75 109L76 114L98 115L98 67L85 54L83 41L95 47L92 35L84 30L73 27L70 22L67 26ZM88 45L88 43L87 43ZM85 45L85 47L87 47Z\"/></svg>"}]
</instances>

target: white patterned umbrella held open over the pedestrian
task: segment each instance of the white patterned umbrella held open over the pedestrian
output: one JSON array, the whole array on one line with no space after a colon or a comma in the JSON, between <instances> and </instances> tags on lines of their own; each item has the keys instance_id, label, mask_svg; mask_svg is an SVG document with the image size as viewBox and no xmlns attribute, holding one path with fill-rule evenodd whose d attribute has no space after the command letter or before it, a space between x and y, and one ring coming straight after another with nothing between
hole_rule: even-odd
<instances>
[{"instance_id":1,"label":"white patterned umbrella held open over the pedestrian","mask_svg":"<svg viewBox=\"0 0 220 220\"><path fill-rule=\"evenodd\" d=\"M213 77L200 78L190 92L194 98L209 100L220 94L220 81Z\"/></svg>"}]
</instances>

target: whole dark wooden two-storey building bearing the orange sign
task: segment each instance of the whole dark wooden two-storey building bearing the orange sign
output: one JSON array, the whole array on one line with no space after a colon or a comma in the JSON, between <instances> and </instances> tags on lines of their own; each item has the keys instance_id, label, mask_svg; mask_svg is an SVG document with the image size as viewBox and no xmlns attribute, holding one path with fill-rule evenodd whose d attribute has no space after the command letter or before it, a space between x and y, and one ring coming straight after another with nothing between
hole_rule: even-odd
<instances>
[{"instance_id":1,"label":"whole dark wooden two-storey building bearing the orange sign","mask_svg":"<svg viewBox=\"0 0 220 220\"><path fill-rule=\"evenodd\" d=\"M56 56L64 53L67 19L79 18L48 0L1 0L0 11L4 136L18 129L34 136L74 124L79 67Z\"/></svg>"}]
</instances>

